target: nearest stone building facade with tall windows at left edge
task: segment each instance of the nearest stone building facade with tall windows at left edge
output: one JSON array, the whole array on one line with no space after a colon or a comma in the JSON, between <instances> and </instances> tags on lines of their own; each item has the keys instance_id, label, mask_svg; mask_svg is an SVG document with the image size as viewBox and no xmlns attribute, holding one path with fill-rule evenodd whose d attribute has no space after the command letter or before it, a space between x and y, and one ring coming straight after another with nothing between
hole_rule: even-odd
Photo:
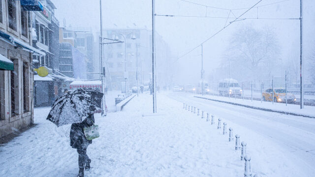
<instances>
[{"instance_id":1,"label":"nearest stone building facade with tall windows at left edge","mask_svg":"<svg viewBox=\"0 0 315 177\"><path fill-rule=\"evenodd\" d=\"M28 5L34 4L0 0L0 57L12 64L0 69L0 137L33 123L32 58L33 54L45 53L32 47L32 15ZM3 66L3 60L0 65Z\"/></svg>"}]
</instances>

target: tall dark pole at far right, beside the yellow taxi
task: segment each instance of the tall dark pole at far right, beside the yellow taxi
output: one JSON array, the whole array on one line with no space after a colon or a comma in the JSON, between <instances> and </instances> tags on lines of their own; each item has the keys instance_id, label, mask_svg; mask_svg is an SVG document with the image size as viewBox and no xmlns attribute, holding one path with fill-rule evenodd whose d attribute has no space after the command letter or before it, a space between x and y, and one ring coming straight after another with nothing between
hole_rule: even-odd
<instances>
[{"instance_id":1,"label":"tall dark pole at far right, beside the yellow taxi","mask_svg":"<svg viewBox=\"0 0 315 177\"><path fill-rule=\"evenodd\" d=\"M300 0L300 107L304 108L304 82L303 82L303 0Z\"/></svg>"}]
</instances>

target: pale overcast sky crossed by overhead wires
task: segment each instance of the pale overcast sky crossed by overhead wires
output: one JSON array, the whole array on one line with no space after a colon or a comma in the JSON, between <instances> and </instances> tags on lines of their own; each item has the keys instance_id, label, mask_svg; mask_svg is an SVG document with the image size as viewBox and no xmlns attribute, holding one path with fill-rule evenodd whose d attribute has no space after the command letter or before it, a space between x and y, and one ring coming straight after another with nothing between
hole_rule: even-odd
<instances>
[{"instance_id":1,"label":"pale overcast sky crossed by overhead wires","mask_svg":"<svg viewBox=\"0 0 315 177\"><path fill-rule=\"evenodd\" d=\"M251 7L258 0L189 0L192 2L225 9ZM282 0L262 0L258 5L270 4ZM99 30L99 0L54 0L58 9L56 17L63 25L72 27L91 27ZM299 18L300 0L286 0L273 5L253 8L244 17L259 18ZM148 28L152 26L151 0L102 0L104 28ZM233 10L239 16L246 9ZM156 0L156 13L184 16L227 17L229 10L206 8L183 0ZM231 16L231 15L230 15ZM190 49L220 30L225 23L232 20L214 18L156 17L156 29L171 47L173 57L182 56ZM254 28L273 28L278 35L281 47L281 58L286 59L299 53L299 20L244 20L235 22L214 38L204 44L205 75L218 67L222 53L228 45L233 32L241 26L251 25ZM315 1L304 0L304 33L305 56L315 47ZM188 80L200 78L200 53L197 48L189 55L178 60L183 71L190 69L193 74L186 75ZM187 73L187 72L186 72ZM179 73L179 75L183 75Z\"/></svg>"}]
</instances>

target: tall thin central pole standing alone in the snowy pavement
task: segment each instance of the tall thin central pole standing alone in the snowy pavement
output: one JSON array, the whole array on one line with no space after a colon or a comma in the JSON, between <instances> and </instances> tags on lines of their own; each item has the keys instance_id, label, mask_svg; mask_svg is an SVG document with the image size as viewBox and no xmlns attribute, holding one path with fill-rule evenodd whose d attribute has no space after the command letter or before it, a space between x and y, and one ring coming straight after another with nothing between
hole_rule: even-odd
<instances>
[{"instance_id":1,"label":"tall thin central pole standing alone in the snowy pavement","mask_svg":"<svg viewBox=\"0 0 315 177\"><path fill-rule=\"evenodd\" d=\"M155 10L155 0L152 0L152 89L153 89L153 113L157 113L157 93L156 93L156 48L155 48L155 40L156 40L156 10Z\"/></svg>"}]
</instances>

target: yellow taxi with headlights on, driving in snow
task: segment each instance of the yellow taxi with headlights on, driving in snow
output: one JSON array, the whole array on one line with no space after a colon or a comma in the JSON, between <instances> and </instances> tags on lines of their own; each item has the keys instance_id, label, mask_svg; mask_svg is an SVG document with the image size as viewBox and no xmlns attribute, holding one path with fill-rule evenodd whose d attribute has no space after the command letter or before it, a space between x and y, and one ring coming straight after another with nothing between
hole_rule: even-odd
<instances>
[{"instance_id":1,"label":"yellow taxi with headlights on, driving in snow","mask_svg":"<svg viewBox=\"0 0 315 177\"><path fill-rule=\"evenodd\" d=\"M272 89L266 89L265 91L262 92L262 100L263 101L272 101L272 99L274 100L274 102L278 102L278 103L285 103L285 89L281 89L281 88L276 88L273 90L274 91L274 97L272 98ZM287 102L288 103L295 103L296 98L294 96L294 94L292 93L287 93L286 95L287 97Z\"/></svg>"}]
</instances>

